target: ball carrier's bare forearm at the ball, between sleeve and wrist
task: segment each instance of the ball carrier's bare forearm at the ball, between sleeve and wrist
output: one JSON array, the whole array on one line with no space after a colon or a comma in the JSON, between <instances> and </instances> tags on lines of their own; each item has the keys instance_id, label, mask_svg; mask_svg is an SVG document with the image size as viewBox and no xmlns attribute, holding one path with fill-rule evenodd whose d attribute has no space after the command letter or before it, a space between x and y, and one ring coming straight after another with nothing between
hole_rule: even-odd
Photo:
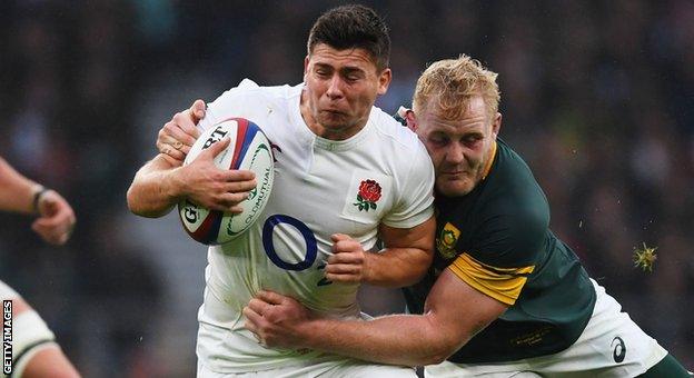
<instances>
[{"instance_id":1,"label":"ball carrier's bare forearm at the ball, between sleeve and wrist","mask_svg":"<svg viewBox=\"0 0 694 378\"><path fill-rule=\"evenodd\" d=\"M158 156L135 175L128 189L128 207L138 216L157 218L168 213L182 195L180 168Z\"/></svg>"}]
</instances>

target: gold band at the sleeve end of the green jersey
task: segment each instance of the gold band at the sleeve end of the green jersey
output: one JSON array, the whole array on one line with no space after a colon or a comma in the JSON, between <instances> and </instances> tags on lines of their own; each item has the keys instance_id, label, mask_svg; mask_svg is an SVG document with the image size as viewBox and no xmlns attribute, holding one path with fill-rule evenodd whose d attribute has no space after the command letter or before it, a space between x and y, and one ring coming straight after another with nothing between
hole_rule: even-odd
<instances>
[{"instance_id":1,"label":"gold band at the sleeve end of the green jersey","mask_svg":"<svg viewBox=\"0 0 694 378\"><path fill-rule=\"evenodd\" d=\"M535 266L519 268L496 268L475 260L468 253L458 256L448 268L467 285L487 296L512 306L520 296L527 275Z\"/></svg>"}]
</instances>

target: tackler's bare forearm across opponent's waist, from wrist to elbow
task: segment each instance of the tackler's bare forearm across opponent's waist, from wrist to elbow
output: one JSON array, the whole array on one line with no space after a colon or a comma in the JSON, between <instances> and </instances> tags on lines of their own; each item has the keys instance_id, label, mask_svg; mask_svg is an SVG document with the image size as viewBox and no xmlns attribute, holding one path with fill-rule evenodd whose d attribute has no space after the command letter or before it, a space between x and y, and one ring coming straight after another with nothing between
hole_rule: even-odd
<instances>
[{"instance_id":1,"label":"tackler's bare forearm across opponent's waist, from wrist to elbow","mask_svg":"<svg viewBox=\"0 0 694 378\"><path fill-rule=\"evenodd\" d=\"M316 319L303 326L299 339L301 348L406 366L438 364L462 346L428 316L413 315L368 321Z\"/></svg>"}]
</instances>

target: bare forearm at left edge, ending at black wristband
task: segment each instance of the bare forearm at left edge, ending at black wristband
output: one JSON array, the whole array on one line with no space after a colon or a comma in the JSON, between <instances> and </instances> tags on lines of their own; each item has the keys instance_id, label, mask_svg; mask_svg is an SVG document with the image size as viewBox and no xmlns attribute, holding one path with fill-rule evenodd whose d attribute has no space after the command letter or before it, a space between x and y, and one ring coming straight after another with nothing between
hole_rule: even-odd
<instances>
[{"instance_id":1,"label":"bare forearm at left edge, ending at black wristband","mask_svg":"<svg viewBox=\"0 0 694 378\"><path fill-rule=\"evenodd\" d=\"M33 196L41 186L16 171L0 158L0 210L36 212Z\"/></svg>"}]
</instances>

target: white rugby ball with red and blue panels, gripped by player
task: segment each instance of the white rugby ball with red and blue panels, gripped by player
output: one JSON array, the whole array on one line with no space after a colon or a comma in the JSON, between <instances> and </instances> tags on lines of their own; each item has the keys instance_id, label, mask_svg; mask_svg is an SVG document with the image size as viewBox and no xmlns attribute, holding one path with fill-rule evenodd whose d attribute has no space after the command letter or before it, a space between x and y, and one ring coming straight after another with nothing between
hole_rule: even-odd
<instances>
[{"instance_id":1,"label":"white rugby ball with red and blue panels, gripped by player","mask_svg":"<svg viewBox=\"0 0 694 378\"><path fill-rule=\"evenodd\" d=\"M244 211L237 215L209 210L189 199L178 203L184 229L205 245L221 245L244 233L258 219L272 190L275 170L270 142L256 123L244 118L230 118L202 132L190 148L184 166L225 137L231 141L215 157L217 168L251 170L258 185L248 199L239 203Z\"/></svg>"}]
</instances>

